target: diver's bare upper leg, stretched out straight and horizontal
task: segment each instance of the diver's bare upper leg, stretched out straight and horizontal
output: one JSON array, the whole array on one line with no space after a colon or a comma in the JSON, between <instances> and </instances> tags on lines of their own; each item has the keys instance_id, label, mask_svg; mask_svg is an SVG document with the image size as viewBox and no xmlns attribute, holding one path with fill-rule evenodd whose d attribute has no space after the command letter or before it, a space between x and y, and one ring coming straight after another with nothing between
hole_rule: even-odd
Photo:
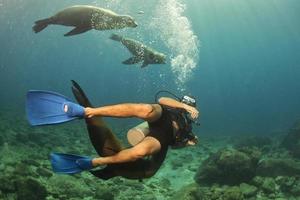
<instances>
[{"instance_id":1,"label":"diver's bare upper leg, stretched out straight and horizontal","mask_svg":"<svg viewBox=\"0 0 300 200\"><path fill-rule=\"evenodd\" d=\"M86 117L138 117L146 121L155 121L161 116L159 104L124 103L99 108L85 108Z\"/></svg>"}]
</instances>

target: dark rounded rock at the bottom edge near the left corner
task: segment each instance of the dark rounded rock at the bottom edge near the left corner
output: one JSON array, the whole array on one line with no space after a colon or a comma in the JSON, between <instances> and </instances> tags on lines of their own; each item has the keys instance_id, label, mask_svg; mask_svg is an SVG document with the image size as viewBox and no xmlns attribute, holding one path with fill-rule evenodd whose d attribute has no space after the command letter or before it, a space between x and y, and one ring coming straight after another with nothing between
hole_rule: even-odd
<instances>
[{"instance_id":1,"label":"dark rounded rock at the bottom edge near the left corner","mask_svg":"<svg viewBox=\"0 0 300 200\"><path fill-rule=\"evenodd\" d=\"M35 179L27 178L16 185L17 200L43 200L47 197L46 188Z\"/></svg>"}]
</instances>

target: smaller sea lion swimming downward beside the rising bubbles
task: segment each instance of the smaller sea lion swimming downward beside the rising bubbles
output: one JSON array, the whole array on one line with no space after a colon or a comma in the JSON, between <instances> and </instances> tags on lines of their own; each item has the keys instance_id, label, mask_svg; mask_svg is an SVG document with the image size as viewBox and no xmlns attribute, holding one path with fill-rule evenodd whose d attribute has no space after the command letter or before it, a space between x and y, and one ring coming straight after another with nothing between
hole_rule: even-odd
<instances>
[{"instance_id":1,"label":"smaller sea lion swimming downward beside the rising bubbles","mask_svg":"<svg viewBox=\"0 0 300 200\"><path fill-rule=\"evenodd\" d=\"M110 39L121 42L133 54L133 57L123 61L123 64L132 65L143 61L141 68L149 64L165 64L166 56L163 53L147 47L143 43L134 39L125 38L117 34L112 34Z\"/></svg>"}]
</instances>

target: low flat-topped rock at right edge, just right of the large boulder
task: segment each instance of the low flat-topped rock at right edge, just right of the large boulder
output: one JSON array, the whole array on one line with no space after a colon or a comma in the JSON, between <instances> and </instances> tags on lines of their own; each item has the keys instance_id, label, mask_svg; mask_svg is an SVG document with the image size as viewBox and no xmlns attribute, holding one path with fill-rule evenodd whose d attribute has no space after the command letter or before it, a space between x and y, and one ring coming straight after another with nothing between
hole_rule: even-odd
<instances>
[{"instance_id":1,"label":"low flat-topped rock at right edge, just right of the large boulder","mask_svg":"<svg viewBox=\"0 0 300 200\"><path fill-rule=\"evenodd\" d=\"M259 176L297 176L300 175L300 162L292 159L264 159L257 167Z\"/></svg>"}]
</instances>

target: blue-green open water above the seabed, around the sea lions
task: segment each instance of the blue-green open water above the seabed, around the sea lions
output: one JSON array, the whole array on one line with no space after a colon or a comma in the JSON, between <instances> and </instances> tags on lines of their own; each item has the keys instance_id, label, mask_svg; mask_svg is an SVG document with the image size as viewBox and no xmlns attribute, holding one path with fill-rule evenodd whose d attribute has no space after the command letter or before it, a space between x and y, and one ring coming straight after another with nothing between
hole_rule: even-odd
<instances>
[{"instance_id":1,"label":"blue-green open water above the seabed, around the sea lions","mask_svg":"<svg viewBox=\"0 0 300 200\"><path fill-rule=\"evenodd\" d=\"M275 133L300 117L298 0L174 2L186 5L180 15L186 17L198 41L197 56L193 55L196 67L181 83L170 63L176 52L151 23L158 17L161 1L0 0L0 111L25 115L29 89L71 97L70 80L74 79L95 105L153 102L160 89L192 94L201 112L199 135ZM63 36L70 30L63 26L32 32L34 21L75 4L130 14L139 26L73 37ZM138 14L140 10L145 14ZM168 64L145 69L123 65L130 54L108 39L111 33L136 38L166 53ZM179 39L175 40L178 45L186 42Z\"/></svg>"}]
</instances>

